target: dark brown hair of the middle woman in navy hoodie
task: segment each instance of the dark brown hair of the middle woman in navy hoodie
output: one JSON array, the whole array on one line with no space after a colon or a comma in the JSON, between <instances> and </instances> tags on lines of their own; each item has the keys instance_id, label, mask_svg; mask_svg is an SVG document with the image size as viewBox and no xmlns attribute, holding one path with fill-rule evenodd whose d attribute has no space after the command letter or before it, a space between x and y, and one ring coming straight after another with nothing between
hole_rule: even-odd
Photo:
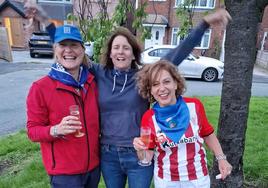
<instances>
[{"instance_id":1,"label":"dark brown hair of the middle woman in navy hoodie","mask_svg":"<svg viewBox=\"0 0 268 188\"><path fill-rule=\"evenodd\" d=\"M131 68L138 69L139 65L142 65L140 59L141 59L141 47L138 44L135 36L124 27L118 27L109 37L107 40L107 43L105 45L106 48L104 48L103 53L101 55L101 61L100 63L104 65L105 68L112 69L114 67L114 64L112 62L112 59L110 58L111 49L112 49L112 43L114 41L114 38L117 36L124 36L126 37L128 43L132 47L133 55L135 57L134 60L131 62Z\"/></svg>"}]
</instances>

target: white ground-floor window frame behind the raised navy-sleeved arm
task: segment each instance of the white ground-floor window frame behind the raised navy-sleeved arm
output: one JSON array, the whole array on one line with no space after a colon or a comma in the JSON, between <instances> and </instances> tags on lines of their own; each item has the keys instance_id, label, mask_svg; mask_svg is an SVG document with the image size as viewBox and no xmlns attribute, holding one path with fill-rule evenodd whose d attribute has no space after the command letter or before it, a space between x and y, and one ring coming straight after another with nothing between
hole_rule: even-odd
<instances>
[{"instance_id":1,"label":"white ground-floor window frame behind the raised navy-sleeved arm","mask_svg":"<svg viewBox=\"0 0 268 188\"><path fill-rule=\"evenodd\" d=\"M180 44L180 36L177 36L177 44L174 44L173 41L174 41L174 37L175 35L177 34L178 32L178 29L177 27L174 27L172 28L172 35L171 35L171 41L170 41L170 44L171 45L179 45ZM209 46L210 46L210 40L211 40L211 29L208 29L202 39L201 39L201 42L200 42L200 46L196 46L195 49L209 49ZM207 46L204 46L205 44L205 37L208 36L208 41L207 41ZM186 36L187 37L187 36Z\"/></svg>"}]
</instances>

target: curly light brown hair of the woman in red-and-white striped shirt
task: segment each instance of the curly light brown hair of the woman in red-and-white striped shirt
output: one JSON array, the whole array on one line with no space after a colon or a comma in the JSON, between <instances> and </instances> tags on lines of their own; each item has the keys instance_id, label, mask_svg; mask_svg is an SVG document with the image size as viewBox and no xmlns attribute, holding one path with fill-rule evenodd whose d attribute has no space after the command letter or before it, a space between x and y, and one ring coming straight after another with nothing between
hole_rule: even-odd
<instances>
[{"instance_id":1,"label":"curly light brown hair of the woman in red-and-white striped shirt","mask_svg":"<svg viewBox=\"0 0 268 188\"><path fill-rule=\"evenodd\" d=\"M150 102L155 102L151 95L151 88L162 70L169 72L174 81L177 82L177 97L186 91L185 80L180 75L178 68L167 60L159 60L156 63L144 65L136 74L139 94Z\"/></svg>"}]
</instances>

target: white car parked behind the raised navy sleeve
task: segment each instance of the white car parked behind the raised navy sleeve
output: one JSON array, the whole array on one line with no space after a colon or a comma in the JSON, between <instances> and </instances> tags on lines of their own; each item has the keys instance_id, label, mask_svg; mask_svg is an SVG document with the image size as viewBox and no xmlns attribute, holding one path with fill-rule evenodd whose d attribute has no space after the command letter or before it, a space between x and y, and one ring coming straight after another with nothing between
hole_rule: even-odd
<instances>
[{"instance_id":1,"label":"white car parked behind the raised navy sleeve","mask_svg":"<svg viewBox=\"0 0 268 188\"><path fill-rule=\"evenodd\" d=\"M144 64L154 63L175 47L159 45L147 48L141 54L141 61ZM207 82L213 82L223 78L223 67L223 62L217 59L190 54L178 68L186 78L201 78Z\"/></svg>"}]
</instances>

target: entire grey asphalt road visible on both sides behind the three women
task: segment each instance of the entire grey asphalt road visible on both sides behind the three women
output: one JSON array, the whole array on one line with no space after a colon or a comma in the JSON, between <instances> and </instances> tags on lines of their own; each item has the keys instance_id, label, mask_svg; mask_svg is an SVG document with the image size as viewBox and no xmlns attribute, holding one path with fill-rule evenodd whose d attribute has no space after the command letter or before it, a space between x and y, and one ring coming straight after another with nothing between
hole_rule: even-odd
<instances>
[{"instance_id":1,"label":"entire grey asphalt road visible on both sides behind the three women","mask_svg":"<svg viewBox=\"0 0 268 188\"><path fill-rule=\"evenodd\" d=\"M21 58L23 60L23 58ZM26 126L26 96L34 80L46 75L52 59L28 63L3 63L0 60L0 136L14 133ZM220 96L222 82L207 83L187 80L187 96ZM268 96L268 74L254 75L253 96Z\"/></svg>"}]
</instances>

